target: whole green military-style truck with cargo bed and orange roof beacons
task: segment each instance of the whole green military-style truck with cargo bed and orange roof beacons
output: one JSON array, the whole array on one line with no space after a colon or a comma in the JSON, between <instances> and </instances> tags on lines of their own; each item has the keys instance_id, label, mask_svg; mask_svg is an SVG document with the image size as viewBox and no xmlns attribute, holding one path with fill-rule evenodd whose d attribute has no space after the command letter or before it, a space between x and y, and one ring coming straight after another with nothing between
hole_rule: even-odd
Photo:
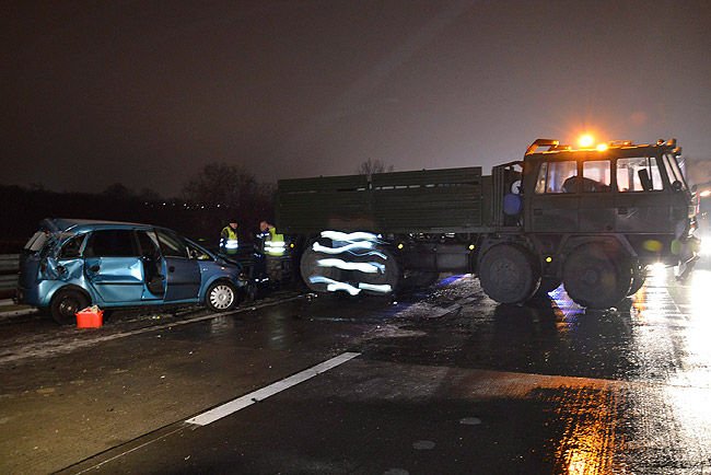
<instances>
[{"instance_id":1,"label":"whole green military-style truck with cargo bed and orange roof beacons","mask_svg":"<svg viewBox=\"0 0 711 475\"><path fill-rule=\"evenodd\" d=\"M693 193L676 140L573 149L538 139L521 161L282 179L277 229L316 292L386 293L470 273L501 303L563 283L615 306L655 263L695 258Z\"/></svg>"}]
</instances>

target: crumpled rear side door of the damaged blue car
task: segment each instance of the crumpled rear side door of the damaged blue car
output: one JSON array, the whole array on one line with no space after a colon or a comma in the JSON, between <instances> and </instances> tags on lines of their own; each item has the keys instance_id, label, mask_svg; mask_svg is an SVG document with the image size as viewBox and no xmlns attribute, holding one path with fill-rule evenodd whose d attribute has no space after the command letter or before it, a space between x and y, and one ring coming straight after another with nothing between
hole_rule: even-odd
<instances>
[{"instance_id":1,"label":"crumpled rear side door of the damaged blue car","mask_svg":"<svg viewBox=\"0 0 711 475\"><path fill-rule=\"evenodd\" d=\"M104 302L140 301L144 275L133 231L93 231L84 247L84 275Z\"/></svg>"}]
</instances>

